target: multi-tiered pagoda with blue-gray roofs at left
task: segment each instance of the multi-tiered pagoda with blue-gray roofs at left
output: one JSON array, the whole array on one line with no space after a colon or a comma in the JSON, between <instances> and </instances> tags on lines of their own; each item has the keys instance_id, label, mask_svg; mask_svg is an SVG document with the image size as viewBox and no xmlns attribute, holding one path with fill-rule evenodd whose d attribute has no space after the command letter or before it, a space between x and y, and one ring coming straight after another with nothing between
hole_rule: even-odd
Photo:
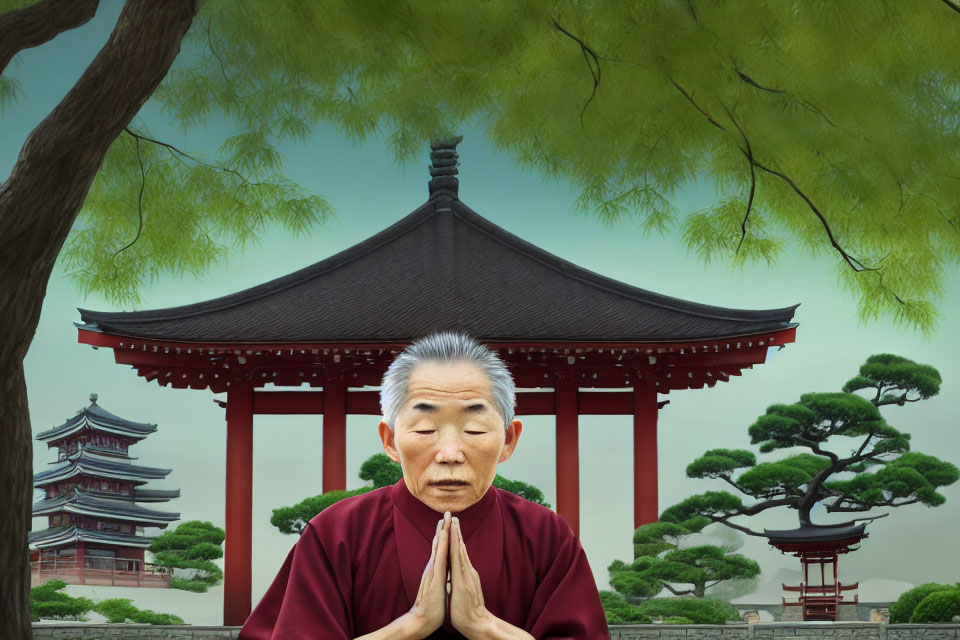
<instances>
[{"instance_id":1,"label":"multi-tiered pagoda with blue-gray roofs at left","mask_svg":"<svg viewBox=\"0 0 960 640\"><path fill-rule=\"evenodd\" d=\"M57 578L70 584L169 586L168 576L144 562L152 538L144 527L164 528L179 513L156 511L138 502L166 502L180 490L143 489L170 469L133 464L131 445L157 425L131 422L90 406L37 440L59 451L53 468L33 477L44 499L33 515L48 516L49 528L30 534L32 581Z\"/></svg>"}]
</instances>

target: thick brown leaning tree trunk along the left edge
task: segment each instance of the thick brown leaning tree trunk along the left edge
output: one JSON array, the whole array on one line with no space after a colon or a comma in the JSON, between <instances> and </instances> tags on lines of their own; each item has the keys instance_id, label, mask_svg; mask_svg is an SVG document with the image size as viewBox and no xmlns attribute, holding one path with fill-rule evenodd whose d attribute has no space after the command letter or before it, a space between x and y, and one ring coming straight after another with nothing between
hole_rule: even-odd
<instances>
[{"instance_id":1,"label":"thick brown leaning tree trunk along the left edge","mask_svg":"<svg viewBox=\"0 0 960 640\"><path fill-rule=\"evenodd\" d=\"M32 635L26 538L33 454L23 358L57 254L103 157L166 75L196 9L196 0L129 0L107 44L31 132L0 185L0 638L5 640Z\"/></svg>"}]
</instances>

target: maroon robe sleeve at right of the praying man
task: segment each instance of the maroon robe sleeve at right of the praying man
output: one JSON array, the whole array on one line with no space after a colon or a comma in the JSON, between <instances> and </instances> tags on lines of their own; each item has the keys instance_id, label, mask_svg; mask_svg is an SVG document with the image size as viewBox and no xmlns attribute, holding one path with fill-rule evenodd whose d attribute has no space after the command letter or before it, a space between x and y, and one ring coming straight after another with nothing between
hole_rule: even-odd
<instances>
[{"instance_id":1,"label":"maroon robe sleeve at right of the praying man","mask_svg":"<svg viewBox=\"0 0 960 640\"><path fill-rule=\"evenodd\" d=\"M524 628L537 640L609 640L607 618L587 554L569 525L533 596Z\"/></svg>"}]
</instances>

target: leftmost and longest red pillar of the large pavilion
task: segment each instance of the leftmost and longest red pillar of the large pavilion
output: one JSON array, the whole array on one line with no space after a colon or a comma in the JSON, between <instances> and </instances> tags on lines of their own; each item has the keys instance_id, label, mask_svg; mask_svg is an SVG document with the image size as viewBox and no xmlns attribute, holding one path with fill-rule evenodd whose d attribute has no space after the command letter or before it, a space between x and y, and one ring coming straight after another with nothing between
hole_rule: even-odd
<instances>
[{"instance_id":1,"label":"leftmost and longest red pillar of the large pavilion","mask_svg":"<svg viewBox=\"0 0 960 640\"><path fill-rule=\"evenodd\" d=\"M250 615L253 527L253 388L234 382L227 391L227 539L223 558L223 624Z\"/></svg>"}]
</instances>

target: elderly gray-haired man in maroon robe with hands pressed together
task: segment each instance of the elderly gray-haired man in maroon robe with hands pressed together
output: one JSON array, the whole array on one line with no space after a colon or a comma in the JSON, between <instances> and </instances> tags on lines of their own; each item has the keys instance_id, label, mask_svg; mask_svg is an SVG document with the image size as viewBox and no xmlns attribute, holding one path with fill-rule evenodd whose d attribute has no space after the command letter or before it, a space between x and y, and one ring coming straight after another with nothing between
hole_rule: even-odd
<instances>
[{"instance_id":1,"label":"elderly gray-haired man in maroon robe with hands pressed together","mask_svg":"<svg viewBox=\"0 0 960 640\"><path fill-rule=\"evenodd\" d=\"M491 486L523 428L503 362L433 334L390 365L380 403L403 478L313 518L241 640L608 638L569 525Z\"/></svg>"}]
</instances>

